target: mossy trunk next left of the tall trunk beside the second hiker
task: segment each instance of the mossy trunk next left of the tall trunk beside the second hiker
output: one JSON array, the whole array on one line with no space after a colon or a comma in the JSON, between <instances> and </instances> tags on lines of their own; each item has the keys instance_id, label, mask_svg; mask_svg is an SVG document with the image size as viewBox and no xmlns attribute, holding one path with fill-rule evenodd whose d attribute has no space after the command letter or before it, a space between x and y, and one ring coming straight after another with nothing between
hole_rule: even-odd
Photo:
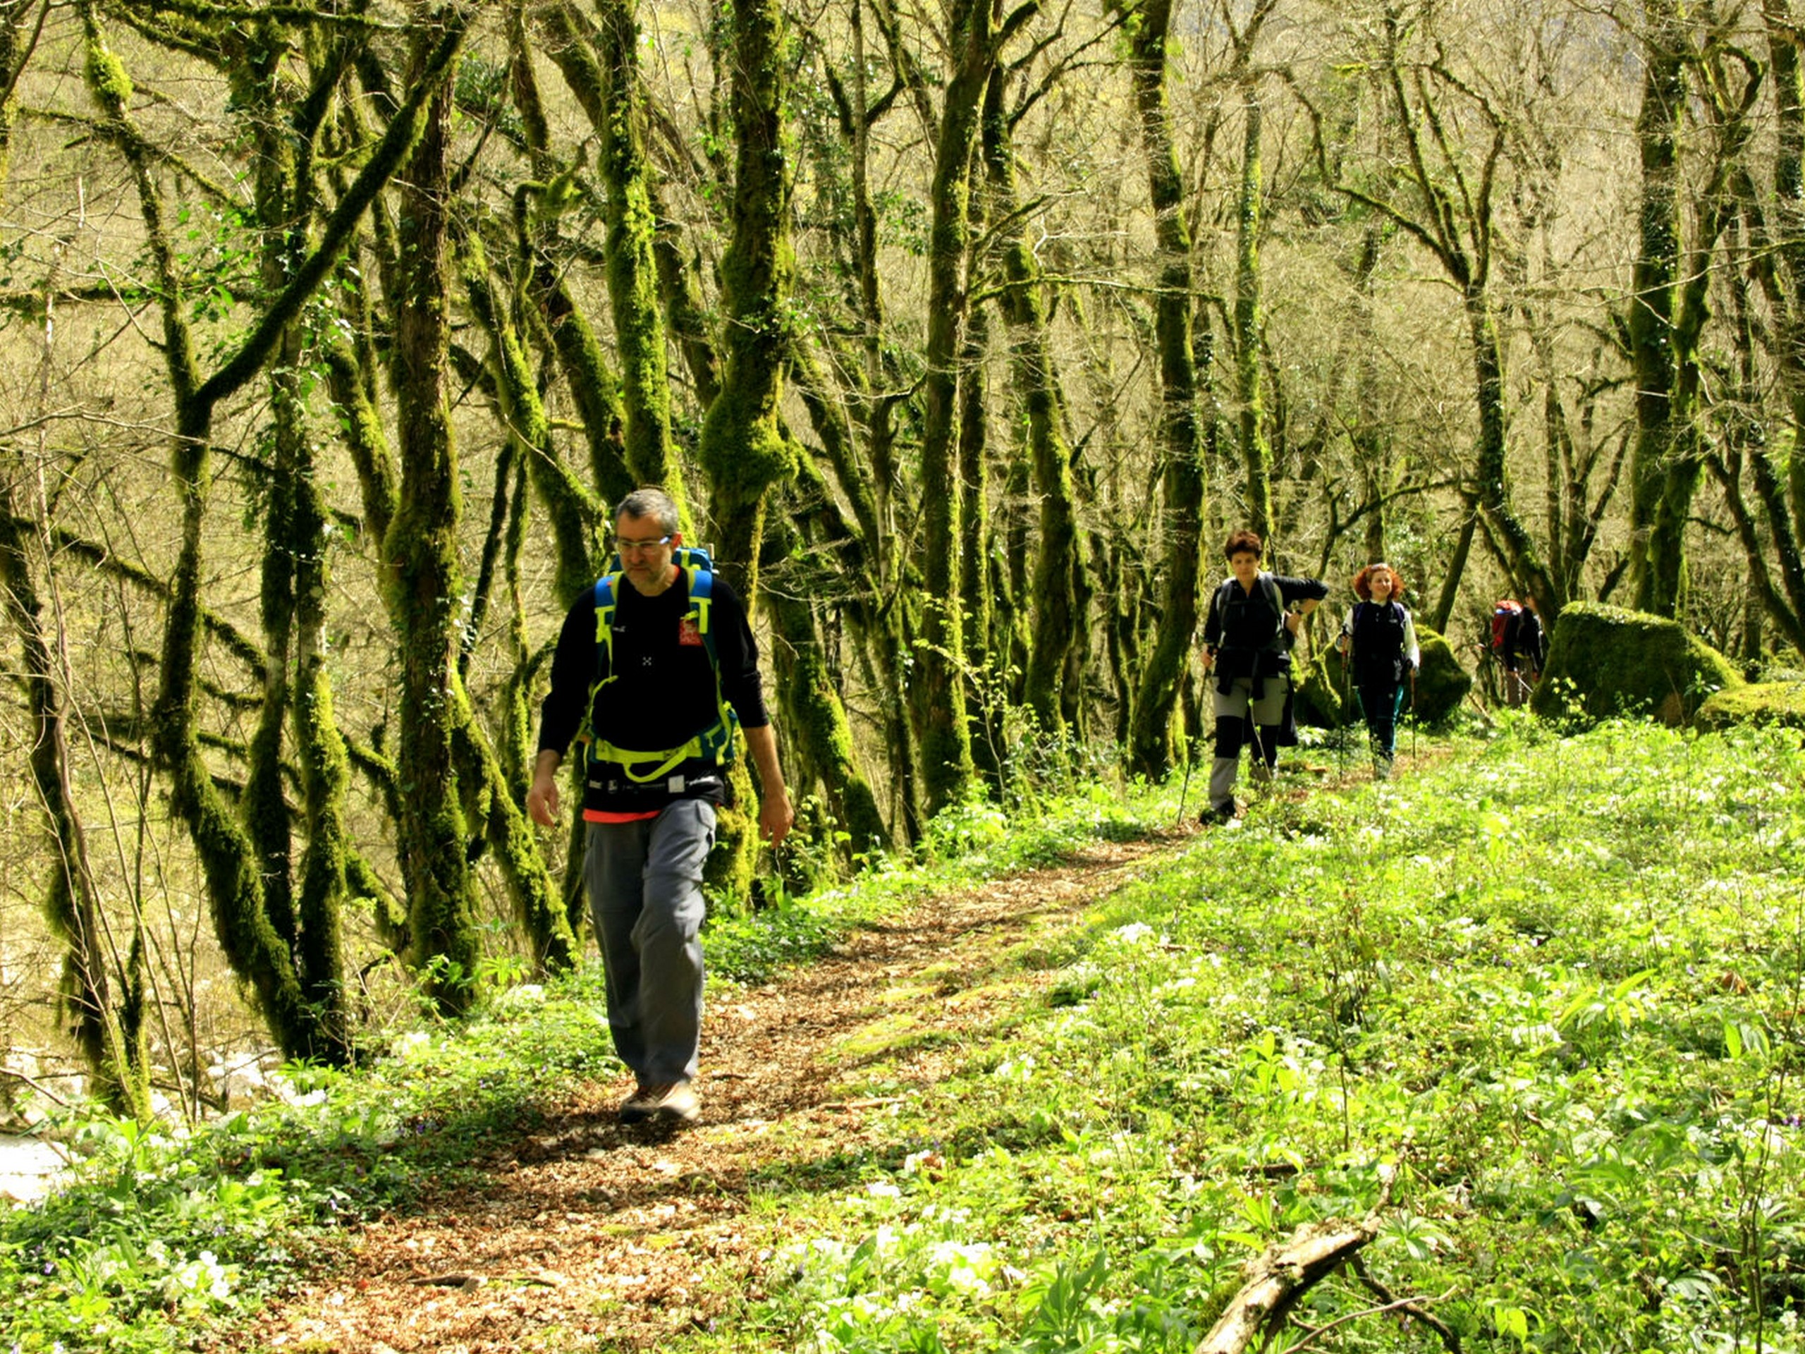
<instances>
[{"instance_id":1,"label":"mossy trunk next left of the tall trunk beside the second hiker","mask_svg":"<svg viewBox=\"0 0 1805 1354\"><path fill-rule=\"evenodd\" d=\"M1005 287L1000 307L1009 323L1011 376L1027 412L1029 464L1040 502L1025 699L1040 728L1058 737L1078 722L1083 695L1067 684L1065 675L1079 632L1085 538L1078 529L1072 444L1065 428L1065 392L1052 357L1047 287L1027 242L1027 218L1016 204L1014 139L1000 70L991 74L984 96L984 166L995 202L991 217L1002 229L998 246Z\"/></svg>"}]
</instances>

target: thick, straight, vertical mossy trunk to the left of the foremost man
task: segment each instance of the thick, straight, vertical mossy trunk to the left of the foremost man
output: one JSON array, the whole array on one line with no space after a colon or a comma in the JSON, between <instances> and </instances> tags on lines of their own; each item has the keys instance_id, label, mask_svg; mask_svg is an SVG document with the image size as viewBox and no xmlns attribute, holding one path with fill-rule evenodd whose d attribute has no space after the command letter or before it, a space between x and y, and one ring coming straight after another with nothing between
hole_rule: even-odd
<instances>
[{"instance_id":1,"label":"thick, straight, vertical mossy trunk to the left of the foremost man","mask_svg":"<svg viewBox=\"0 0 1805 1354\"><path fill-rule=\"evenodd\" d=\"M422 47L415 40L415 70ZM401 236L408 242L393 316L401 498L383 558L401 645L397 852L408 881L413 960L439 1007L457 1013L475 995L480 946L453 747L464 699L457 682L464 589L457 556L462 487L446 395L449 139L451 96L440 90L426 108L399 190Z\"/></svg>"}]
</instances>

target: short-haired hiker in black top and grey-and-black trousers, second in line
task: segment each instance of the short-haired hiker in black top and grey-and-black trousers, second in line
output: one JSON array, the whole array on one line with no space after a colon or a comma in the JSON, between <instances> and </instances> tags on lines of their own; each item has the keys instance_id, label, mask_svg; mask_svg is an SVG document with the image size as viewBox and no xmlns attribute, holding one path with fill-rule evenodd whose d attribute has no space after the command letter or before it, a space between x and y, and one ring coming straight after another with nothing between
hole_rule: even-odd
<instances>
[{"instance_id":1,"label":"short-haired hiker in black top and grey-and-black trousers, second in line","mask_svg":"<svg viewBox=\"0 0 1805 1354\"><path fill-rule=\"evenodd\" d=\"M1253 711L1254 753L1249 774L1273 778L1285 693L1291 690L1291 635L1328 596L1314 578L1282 578L1260 569L1262 542L1236 531L1222 552L1229 572L1209 599L1204 619L1204 672L1215 672L1217 756L1209 767L1206 823L1235 818L1235 773L1240 769L1242 720ZM1296 607L1296 610L1292 610Z\"/></svg>"}]
</instances>

